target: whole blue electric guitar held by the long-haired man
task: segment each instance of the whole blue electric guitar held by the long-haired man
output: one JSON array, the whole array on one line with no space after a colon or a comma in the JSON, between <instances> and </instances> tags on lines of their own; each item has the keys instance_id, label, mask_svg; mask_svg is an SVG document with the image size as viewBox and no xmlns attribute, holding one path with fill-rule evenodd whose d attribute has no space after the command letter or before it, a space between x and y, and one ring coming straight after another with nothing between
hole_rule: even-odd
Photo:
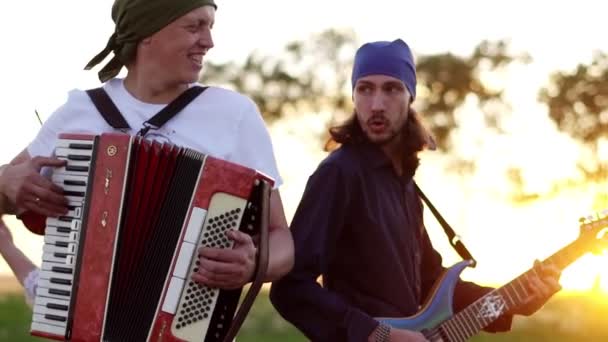
<instances>
[{"instance_id":1,"label":"whole blue electric guitar held by the long-haired man","mask_svg":"<svg viewBox=\"0 0 608 342\"><path fill-rule=\"evenodd\" d=\"M578 238L542 261L563 270L588 251L601 250L608 240L608 210L593 218L581 218ZM434 342L463 342L494 322L505 312L528 302L527 278L535 272L529 269L508 284L479 298L457 314L452 312L454 288L460 273L472 262L461 261L447 269L435 283L422 309L409 317L377 317L376 320L394 328L420 331Z\"/></svg>"}]
</instances>

